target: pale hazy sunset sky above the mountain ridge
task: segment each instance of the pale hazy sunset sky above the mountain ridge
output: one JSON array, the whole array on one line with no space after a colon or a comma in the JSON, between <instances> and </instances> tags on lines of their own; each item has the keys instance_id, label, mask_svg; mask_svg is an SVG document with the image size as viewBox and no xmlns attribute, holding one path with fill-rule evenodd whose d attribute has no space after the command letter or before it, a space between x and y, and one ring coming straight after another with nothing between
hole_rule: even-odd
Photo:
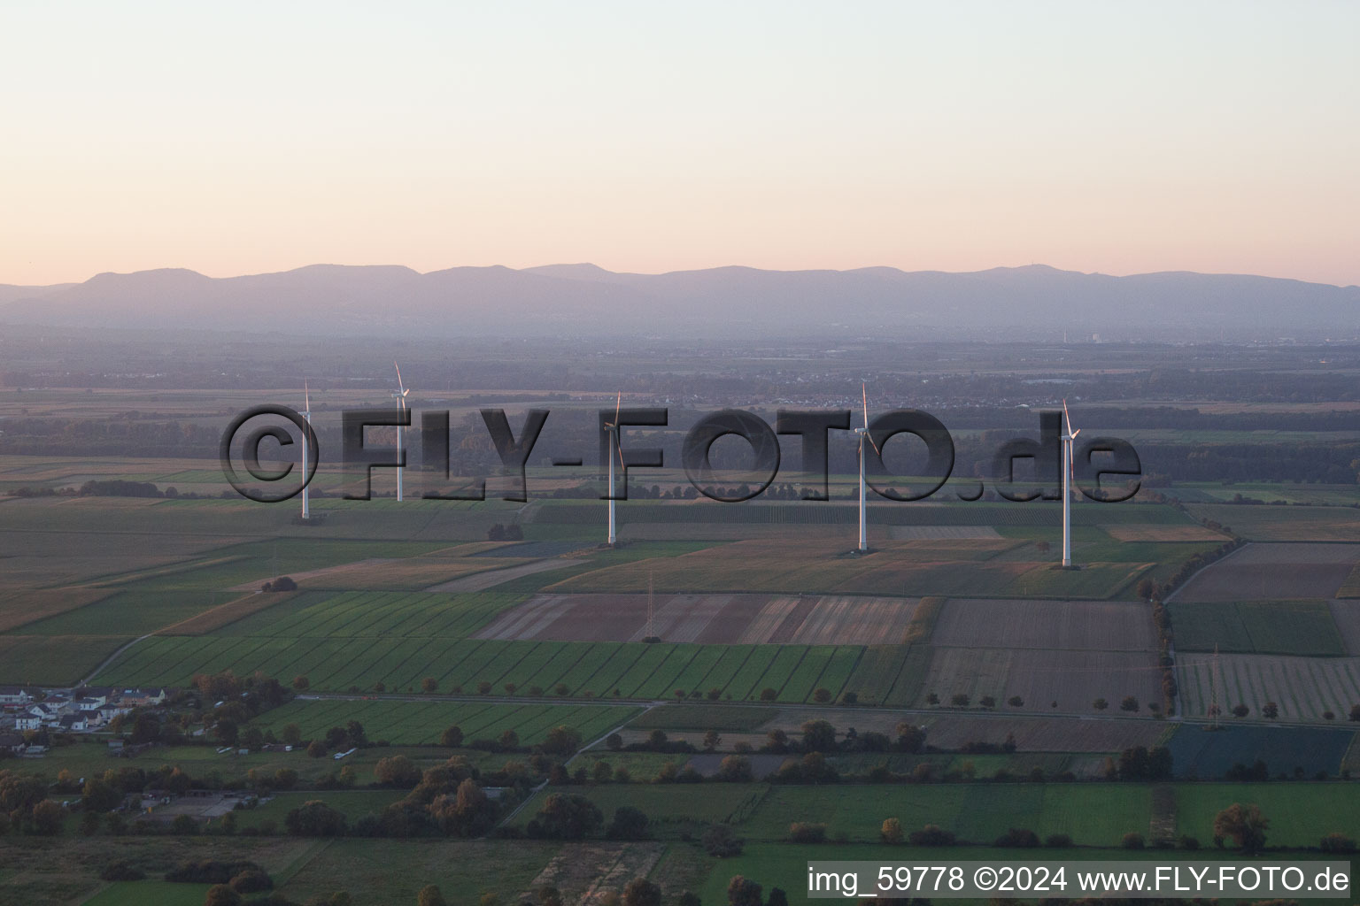
<instances>
[{"instance_id":1,"label":"pale hazy sunset sky above the mountain ridge","mask_svg":"<svg viewBox=\"0 0 1360 906\"><path fill-rule=\"evenodd\" d=\"M0 7L0 283L314 262L1360 284L1357 3Z\"/></svg>"}]
</instances>

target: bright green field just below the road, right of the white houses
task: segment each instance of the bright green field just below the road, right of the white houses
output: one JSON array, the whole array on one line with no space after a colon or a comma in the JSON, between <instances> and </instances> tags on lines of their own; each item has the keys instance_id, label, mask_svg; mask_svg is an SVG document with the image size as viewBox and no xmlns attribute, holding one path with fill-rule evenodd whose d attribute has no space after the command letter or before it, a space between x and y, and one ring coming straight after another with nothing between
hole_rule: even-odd
<instances>
[{"instance_id":1,"label":"bright green field just below the road, right of the white houses","mask_svg":"<svg viewBox=\"0 0 1360 906\"><path fill-rule=\"evenodd\" d=\"M641 713L632 705L506 705L453 701L397 700L294 700L256 721L261 729L280 735L298 724L303 739L318 739L330 727L347 721L363 724L370 740L394 746L432 746L447 727L458 727L464 739L495 739L513 729L528 746L543 742L554 727L571 727L589 743Z\"/></svg>"}]
</instances>

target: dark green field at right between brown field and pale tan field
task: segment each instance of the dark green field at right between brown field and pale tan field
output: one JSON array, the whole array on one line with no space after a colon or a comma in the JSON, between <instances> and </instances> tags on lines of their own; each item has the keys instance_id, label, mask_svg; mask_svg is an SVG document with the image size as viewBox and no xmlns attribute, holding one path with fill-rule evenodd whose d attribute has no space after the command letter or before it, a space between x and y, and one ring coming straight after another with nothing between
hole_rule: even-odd
<instances>
[{"instance_id":1,"label":"dark green field at right between brown field and pale tan field","mask_svg":"<svg viewBox=\"0 0 1360 906\"><path fill-rule=\"evenodd\" d=\"M1176 648L1341 657L1345 642L1323 600L1174 603Z\"/></svg>"}]
</instances>

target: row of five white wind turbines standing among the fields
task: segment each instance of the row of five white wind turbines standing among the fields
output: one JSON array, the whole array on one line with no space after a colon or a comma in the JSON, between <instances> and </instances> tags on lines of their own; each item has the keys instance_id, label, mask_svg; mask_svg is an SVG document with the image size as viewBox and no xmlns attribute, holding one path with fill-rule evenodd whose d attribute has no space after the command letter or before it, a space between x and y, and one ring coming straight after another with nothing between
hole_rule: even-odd
<instances>
[{"instance_id":1,"label":"row of five white wind turbines standing among the fields","mask_svg":"<svg viewBox=\"0 0 1360 906\"><path fill-rule=\"evenodd\" d=\"M411 388L405 386L401 380L401 365L396 361L392 367L397 372L397 387L392 391L392 398L397 401L397 413L400 416L397 422L397 460L401 462L405 432L403 429L403 422L405 422L407 413L407 395ZM303 410L299 413L306 418L307 425L311 424L311 393L307 388L307 383L302 383L303 388ZM860 458L860 546L855 553L866 554L869 553L869 507L868 507L868 479L865 478L865 443L873 447L876 455L883 455L879 450L879 444L874 443L873 435L869 431L869 386L866 383L860 384L860 402L861 412L864 414L864 425L854 428L854 433L858 436L858 458ZM613 547L619 543L619 520L617 520L617 500L615 496L616 486L616 473L613 467L615 459L619 460L619 471L626 473L626 466L623 462L623 440L619 436L619 413L623 406L623 391L619 391L613 402L613 421L604 422L604 429L609 435L609 473L608 473L608 486L609 486L609 524L607 531L607 543ZM1068 413L1068 401L1062 401L1062 568L1072 569L1072 484L1073 484L1073 456L1072 456L1072 441L1076 440L1081 429L1072 428L1072 416ZM405 471L403 466L397 466L397 500L404 500L403 496L403 482L401 473ZM302 446L302 474L307 474L307 444ZM307 504L307 488L302 488L302 518L310 519L311 511Z\"/></svg>"}]
</instances>

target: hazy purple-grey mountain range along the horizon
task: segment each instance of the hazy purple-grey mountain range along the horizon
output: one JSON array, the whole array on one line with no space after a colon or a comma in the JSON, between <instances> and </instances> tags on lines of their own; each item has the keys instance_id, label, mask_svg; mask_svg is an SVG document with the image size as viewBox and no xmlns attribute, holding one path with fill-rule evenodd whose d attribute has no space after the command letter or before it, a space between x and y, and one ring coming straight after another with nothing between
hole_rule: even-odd
<instances>
[{"instance_id":1,"label":"hazy purple-grey mountain range along the horizon","mask_svg":"<svg viewBox=\"0 0 1360 906\"><path fill-rule=\"evenodd\" d=\"M1360 338L1360 287L1164 272L1111 277L1044 265L971 273L710 268L311 265L214 278L102 273L0 285L0 323L332 336L816 336L930 340Z\"/></svg>"}]
</instances>

